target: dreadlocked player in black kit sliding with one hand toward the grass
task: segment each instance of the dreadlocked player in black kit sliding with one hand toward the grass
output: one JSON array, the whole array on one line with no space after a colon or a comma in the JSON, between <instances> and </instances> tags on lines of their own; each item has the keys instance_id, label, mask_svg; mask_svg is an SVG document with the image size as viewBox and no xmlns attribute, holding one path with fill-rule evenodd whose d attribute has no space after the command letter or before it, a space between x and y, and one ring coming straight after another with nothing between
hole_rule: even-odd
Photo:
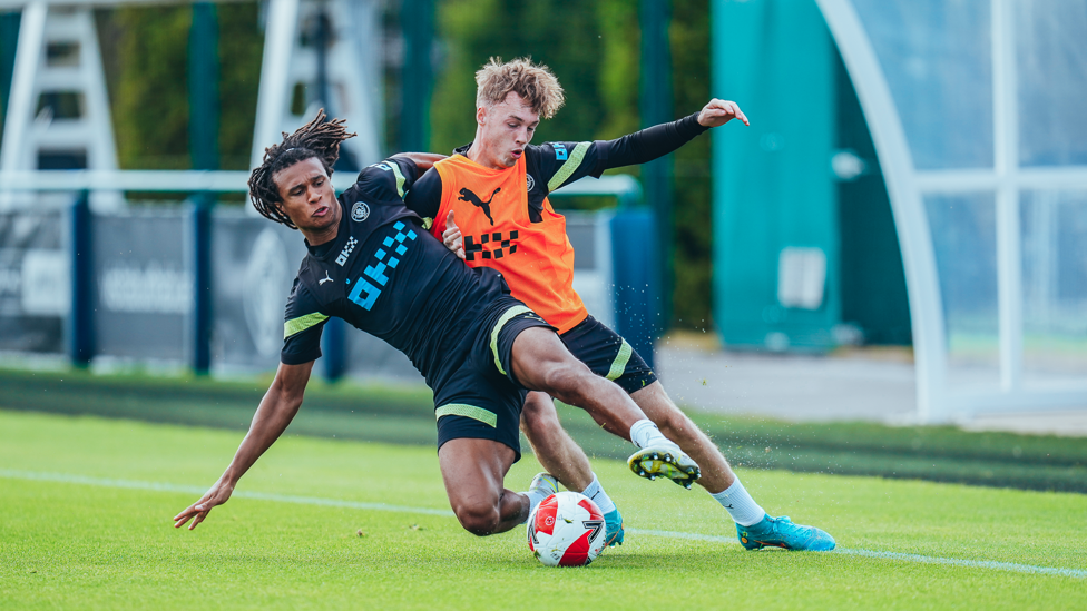
<instances>
[{"instance_id":1,"label":"dreadlocked player in black kit sliding with one hand toward the grass","mask_svg":"<svg viewBox=\"0 0 1087 611\"><path fill-rule=\"evenodd\" d=\"M286 430L302 404L321 331L339 316L411 358L434 391L438 459L461 525L477 534L526 521L549 492L503 487L520 459L518 423L527 390L586 408L606 430L630 438L638 455L667 455L684 467L660 475L691 480L698 467L621 388L574 358L539 315L509 295L501 274L471 269L428 235L404 207L404 190L434 156L394 157L362 170L339 198L330 175L347 134L324 111L265 150L249 196L265 217L306 239L286 306L281 364L249 431L219 480L178 513L192 530L225 503L239 477ZM414 159L414 161L412 160ZM655 472L654 475L657 473Z\"/></svg>"}]
</instances>

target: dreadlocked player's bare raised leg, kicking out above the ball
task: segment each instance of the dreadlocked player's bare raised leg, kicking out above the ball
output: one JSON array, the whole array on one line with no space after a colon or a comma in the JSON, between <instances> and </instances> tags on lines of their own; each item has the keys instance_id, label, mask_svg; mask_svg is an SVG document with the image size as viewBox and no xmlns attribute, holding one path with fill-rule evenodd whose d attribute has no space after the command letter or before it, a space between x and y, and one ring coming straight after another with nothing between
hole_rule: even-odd
<instances>
[{"instance_id":1,"label":"dreadlocked player's bare raised leg, kicking out above the ball","mask_svg":"<svg viewBox=\"0 0 1087 611\"><path fill-rule=\"evenodd\" d=\"M577 358L555 332L544 327L522 331L513 341L513 375L531 391L545 391L576 405L607 432L630 440L630 427L646 417L626 392L599 377Z\"/></svg>"}]
</instances>

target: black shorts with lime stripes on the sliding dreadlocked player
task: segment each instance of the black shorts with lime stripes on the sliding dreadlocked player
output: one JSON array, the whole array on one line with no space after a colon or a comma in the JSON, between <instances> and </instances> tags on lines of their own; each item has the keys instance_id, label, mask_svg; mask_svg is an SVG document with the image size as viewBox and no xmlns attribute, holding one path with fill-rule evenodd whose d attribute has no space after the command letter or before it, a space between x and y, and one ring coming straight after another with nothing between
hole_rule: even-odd
<instances>
[{"instance_id":1,"label":"black shorts with lime stripes on the sliding dreadlocked player","mask_svg":"<svg viewBox=\"0 0 1087 611\"><path fill-rule=\"evenodd\" d=\"M530 327L555 329L508 295L479 317L463 362L434 388L439 449L450 440L493 440L513 449L515 462L520 460L519 425L528 391L513 378L510 362L513 339Z\"/></svg>"}]
</instances>

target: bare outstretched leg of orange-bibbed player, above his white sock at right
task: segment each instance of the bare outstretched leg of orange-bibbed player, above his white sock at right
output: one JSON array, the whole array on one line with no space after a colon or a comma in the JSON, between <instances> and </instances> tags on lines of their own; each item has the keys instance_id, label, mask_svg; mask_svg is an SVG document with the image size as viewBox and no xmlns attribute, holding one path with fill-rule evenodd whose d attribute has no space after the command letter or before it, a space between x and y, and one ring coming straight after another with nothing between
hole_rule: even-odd
<instances>
[{"instance_id":1,"label":"bare outstretched leg of orange-bibbed player, above his white sock at right","mask_svg":"<svg viewBox=\"0 0 1087 611\"><path fill-rule=\"evenodd\" d=\"M698 484L707 492L716 494L736 481L736 474L733 473L721 450L695 423L691 422L686 414L679 411L659 382L636 391L630 397L666 437L679 444L679 447L698 463L702 467L702 479L698 480Z\"/></svg>"}]
</instances>

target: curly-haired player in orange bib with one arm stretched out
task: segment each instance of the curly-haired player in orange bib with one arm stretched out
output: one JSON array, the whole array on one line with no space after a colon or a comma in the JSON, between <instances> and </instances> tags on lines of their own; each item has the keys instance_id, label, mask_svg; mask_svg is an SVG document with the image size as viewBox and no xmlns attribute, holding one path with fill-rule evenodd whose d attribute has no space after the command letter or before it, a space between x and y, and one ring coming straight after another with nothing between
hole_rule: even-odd
<instances>
[{"instance_id":1,"label":"curly-haired player in orange bib with one arm stretched out","mask_svg":"<svg viewBox=\"0 0 1087 611\"><path fill-rule=\"evenodd\" d=\"M430 231L470 266L501 272L513 296L557 327L575 356L630 393L646 415L702 466L698 483L728 511L745 548L833 549L834 540L824 531L763 511L717 446L672 402L645 361L589 316L574 290L574 248L566 220L547 197L581 177L599 177L609 168L667 155L732 119L747 125L740 107L713 99L699 112L615 140L532 146L540 119L550 118L564 104L562 88L550 70L527 59L501 63L492 58L476 73L476 82L474 141L420 178L408 207L433 219ZM550 398L531 393L522 412L526 436L533 446L548 445L552 454L566 456L548 463L548 454L538 454L558 481L580 490L585 482L577 481L569 465L588 471L587 460L555 426L557 421ZM629 464L636 473L657 466L637 457Z\"/></svg>"}]
</instances>

